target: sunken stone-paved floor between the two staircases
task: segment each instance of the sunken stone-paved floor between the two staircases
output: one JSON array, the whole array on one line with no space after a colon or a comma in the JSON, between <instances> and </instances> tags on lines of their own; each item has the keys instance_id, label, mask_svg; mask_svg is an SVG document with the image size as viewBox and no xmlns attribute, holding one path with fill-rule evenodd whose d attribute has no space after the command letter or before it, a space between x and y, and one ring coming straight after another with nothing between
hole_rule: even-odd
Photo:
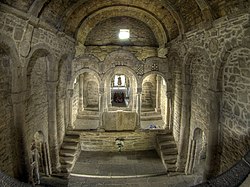
<instances>
[{"instance_id":1,"label":"sunken stone-paved floor between the two staircases","mask_svg":"<svg viewBox=\"0 0 250 187\"><path fill-rule=\"evenodd\" d=\"M90 176L142 176L165 174L154 150L133 152L81 152L72 174Z\"/></svg>"}]
</instances>

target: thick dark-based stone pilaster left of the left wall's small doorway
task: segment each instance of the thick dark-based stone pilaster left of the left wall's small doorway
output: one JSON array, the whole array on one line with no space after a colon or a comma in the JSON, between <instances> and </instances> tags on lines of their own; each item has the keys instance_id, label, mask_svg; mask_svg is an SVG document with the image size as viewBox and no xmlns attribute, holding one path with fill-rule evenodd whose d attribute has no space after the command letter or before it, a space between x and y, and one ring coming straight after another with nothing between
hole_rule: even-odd
<instances>
[{"instance_id":1,"label":"thick dark-based stone pilaster left of the left wall's small doorway","mask_svg":"<svg viewBox=\"0 0 250 187\"><path fill-rule=\"evenodd\" d=\"M13 145L15 163L14 177L28 182L29 163L29 146L25 141L25 102L26 92L12 93L13 115L14 115L14 129L13 129Z\"/></svg>"}]
</instances>

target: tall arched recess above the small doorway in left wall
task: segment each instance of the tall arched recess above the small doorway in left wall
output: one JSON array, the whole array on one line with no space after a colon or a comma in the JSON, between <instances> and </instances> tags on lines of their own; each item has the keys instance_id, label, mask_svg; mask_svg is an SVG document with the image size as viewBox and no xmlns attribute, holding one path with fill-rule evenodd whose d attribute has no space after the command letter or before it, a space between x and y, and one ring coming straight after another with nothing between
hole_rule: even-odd
<instances>
[{"instance_id":1,"label":"tall arched recess above the small doorway in left wall","mask_svg":"<svg viewBox=\"0 0 250 187\"><path fill-rule=\"evenodd\" d=\"M31 49L27 64L27 105L25 141L31 144L32 134L42 131L49 141L53 172L59 169L56 123L57 65L53 50L45 44ZM39 123L37 123L39 121Z\"/></svg>"}]
</instances>

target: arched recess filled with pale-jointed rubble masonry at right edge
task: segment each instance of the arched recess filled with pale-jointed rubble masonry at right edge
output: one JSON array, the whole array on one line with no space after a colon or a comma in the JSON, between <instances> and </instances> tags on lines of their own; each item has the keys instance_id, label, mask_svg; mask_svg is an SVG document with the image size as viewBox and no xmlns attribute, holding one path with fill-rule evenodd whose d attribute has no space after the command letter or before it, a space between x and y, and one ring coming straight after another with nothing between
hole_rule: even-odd
<instances>
[{"instance_id":1,"label":"arched recess filled with pale-jointed rubble masonry at right edge","mask_svg":"<svg viewBox=\"0 0 250 187\"><path fill-rule=\"evenodd\" d=\"M250 149L250 49L229 49L218 72L221 90L220 172L228 170Z\"/></svg>"}]
</instances>

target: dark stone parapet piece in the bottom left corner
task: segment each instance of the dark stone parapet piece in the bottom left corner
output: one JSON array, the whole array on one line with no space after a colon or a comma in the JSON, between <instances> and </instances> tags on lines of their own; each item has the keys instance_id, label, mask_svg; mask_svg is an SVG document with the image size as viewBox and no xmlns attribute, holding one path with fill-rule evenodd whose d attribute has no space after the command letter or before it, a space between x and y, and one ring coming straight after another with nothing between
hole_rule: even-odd
<instances>
[{"instance_id":1,"label":"dark stone parapet piece in the bottom left corner","mask_svg":"<svg viewBox=\"0 0 250 187\"><path fill-rule=\"evenodd\" d=\"M8 187L31 187L30 184L20 182L0 171L0 186Z\"/></svg>"}]
</instances>

